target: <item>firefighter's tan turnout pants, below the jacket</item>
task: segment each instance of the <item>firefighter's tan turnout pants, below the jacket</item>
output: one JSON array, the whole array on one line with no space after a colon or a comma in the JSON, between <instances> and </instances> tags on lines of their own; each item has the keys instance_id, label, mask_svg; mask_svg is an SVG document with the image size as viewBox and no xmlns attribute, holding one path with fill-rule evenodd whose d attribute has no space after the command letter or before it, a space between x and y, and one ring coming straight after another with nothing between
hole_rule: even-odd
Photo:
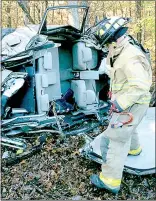
<instances>
[{"instance_id":1,"label":"firefighter's tan turnout pants, below the jacket","mask_svg":"<svg viewBox=\"0 0 156 201\"><path fill-rule=\"evenodd\" d=\"M101 154L103 158L102 176L108 180L121 183L124 163L129 150L137 149L139 144L136 128L144 117L148 105L134 104L124 112L130 112L133 115L133 121L130 124L119 128L111 128L111 124L116 121L128 120L127 115L113 113L108 128L103 132L101 138Z\"/></svg>"}]
</instances>

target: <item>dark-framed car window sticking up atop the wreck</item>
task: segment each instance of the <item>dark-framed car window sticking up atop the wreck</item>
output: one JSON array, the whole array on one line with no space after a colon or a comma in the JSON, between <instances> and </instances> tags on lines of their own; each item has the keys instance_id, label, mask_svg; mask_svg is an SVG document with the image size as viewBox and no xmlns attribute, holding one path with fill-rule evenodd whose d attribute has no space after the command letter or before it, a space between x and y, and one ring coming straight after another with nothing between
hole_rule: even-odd
<instances>
[{"instance_id":1,"label":"dark-framed car window sticking up atop the wreck","mask_svg":"<svg viewBox=\"0 0 156 201\"><path fill-rule=\"evenodd\" d=\"M86 7L50 7L44 14L40 30L42 30L45 21L47 30L60 26L73 26L81 29L83 26Z\"/></svg>"}]
</instances>

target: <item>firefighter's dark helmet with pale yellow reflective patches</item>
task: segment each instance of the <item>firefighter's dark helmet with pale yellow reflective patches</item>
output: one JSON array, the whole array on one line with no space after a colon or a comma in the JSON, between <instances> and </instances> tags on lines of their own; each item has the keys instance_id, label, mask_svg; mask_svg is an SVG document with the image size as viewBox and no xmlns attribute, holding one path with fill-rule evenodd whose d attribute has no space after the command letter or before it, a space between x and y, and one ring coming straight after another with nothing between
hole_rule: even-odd
<instances>
[{"instance_id":1,"label":"firefighter's dark helmet with pale yellow reflective patches","mask_svg":"<svg viewBox=\"0 0 156 201\"><path fill-rule=\"evenodd\" d=\"M124 34L128 28L124 27L127 23L130 22L130 18L124 17L111 17L104 18L102 21L97 23L92 27L92 34L98 39L101 46L106 43L111 43L115 41L115 35L117 32L122 30Z\"/></svg>"}]
</instances>

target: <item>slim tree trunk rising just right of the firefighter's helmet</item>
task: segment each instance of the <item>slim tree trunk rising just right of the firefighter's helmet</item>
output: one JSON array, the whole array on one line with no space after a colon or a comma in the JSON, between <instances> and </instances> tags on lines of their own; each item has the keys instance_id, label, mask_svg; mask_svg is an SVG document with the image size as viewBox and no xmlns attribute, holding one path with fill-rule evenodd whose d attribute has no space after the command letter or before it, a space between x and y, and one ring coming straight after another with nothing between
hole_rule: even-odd
<instances>
[{"instance_id":1,"label":"slim tree trunk rising just right of the firefighter's helmet","mask_svg":"<svg viewBox=\"0 0 156 201\"><path fill-rule=\"evenodd\" d=\"M138 22L139 31L137 33L137 40L141 43L142 39L142 27L141 27L141 11L142 11L142 2L141 0L136 1L136 19Z\"/></svg>"}]
</instances>

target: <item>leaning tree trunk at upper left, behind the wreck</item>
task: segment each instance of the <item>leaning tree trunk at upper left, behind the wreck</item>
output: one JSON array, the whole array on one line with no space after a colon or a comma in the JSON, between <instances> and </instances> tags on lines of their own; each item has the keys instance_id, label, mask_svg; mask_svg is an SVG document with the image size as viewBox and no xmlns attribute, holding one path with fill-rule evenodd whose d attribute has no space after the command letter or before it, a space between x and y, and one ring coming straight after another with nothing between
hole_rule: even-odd
<instances>
[{"instance_id":1,"label":"leaning tree trunk at upper left, behind the wreck","mask_svg":"<svg viewBox=\"0 0 156 201\"><path fill-rule=\"evenodd\" d=\"M25 15L24 20L26 20L26 21L24 21L24 23L26 24L29 21L30 23L35 24L34 20L30 16L29 9L27 7L27 2L23 1L23 0L18 0L18 5L21 7L21 9L23 10L24 15Z\"/></svg>"}]
</instances>

